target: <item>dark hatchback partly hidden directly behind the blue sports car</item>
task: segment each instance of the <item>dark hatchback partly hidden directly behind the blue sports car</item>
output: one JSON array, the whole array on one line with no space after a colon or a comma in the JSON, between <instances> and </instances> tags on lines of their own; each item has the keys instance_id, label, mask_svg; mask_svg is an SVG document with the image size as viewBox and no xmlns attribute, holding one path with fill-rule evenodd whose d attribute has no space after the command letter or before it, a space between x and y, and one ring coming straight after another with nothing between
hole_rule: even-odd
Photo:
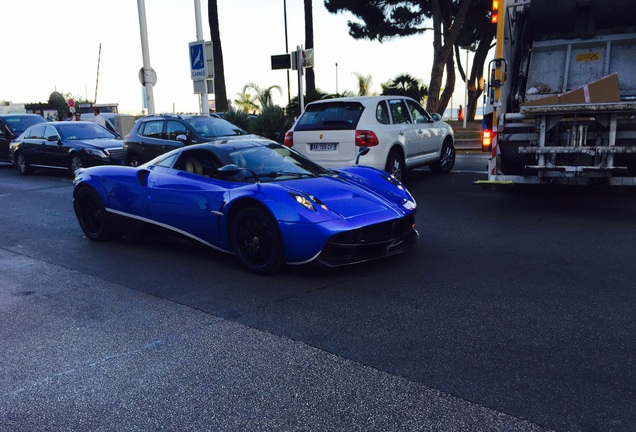
<instances>
[{"instance_id":1,"label":"dark hatchback partly hidden directly behind the blue sports car","mask_svg":"<svg viewBox=\"0 0 636 432\"><path fill-rule=\"evenodd\" d=\"M246 131L217 116L147 116L137 120L124 138L125 163L139 166L186 145L245 135Z\"/></svg>"}]
</instances>

